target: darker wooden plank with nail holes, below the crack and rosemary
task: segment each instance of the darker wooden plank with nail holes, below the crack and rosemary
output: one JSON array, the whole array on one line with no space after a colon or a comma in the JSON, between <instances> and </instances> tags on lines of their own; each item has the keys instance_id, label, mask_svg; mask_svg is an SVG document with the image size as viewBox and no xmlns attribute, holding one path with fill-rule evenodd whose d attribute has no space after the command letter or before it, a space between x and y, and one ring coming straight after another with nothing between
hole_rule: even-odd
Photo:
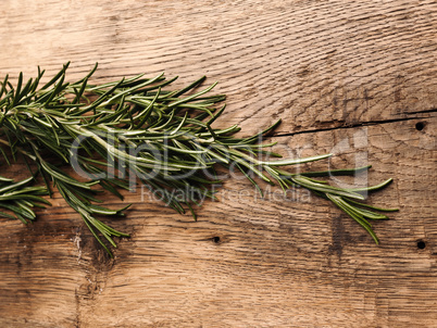
<instances>
[{"instance_id":1,"label":"darker wooden plank with nail holes, below the crack and rosemary","mask_svg":"<svg viewBox=\"0 0 437 328\"><path fill-rule=\"evenodd\" d=\"M76 320L80 327L103 327L111 326L111 313L113 326L126 327L332 320L345 327L351 320L392 327L413 317L427 326L437 319L429 311L436 297L437 226L428 184L435 173L426 162L433 153L426 138L436 123L428 121L422 131L415 122L366 128L365 151L375 163L371 182L397 177L377 202L401 209L392 220L376 225L380 247L323 200L304 192L284 198L276 189L263 200L238 177L224 186L221 202L204 204L198 223L163 209L147 192L127 194L134 210L114 224L133 237L121 242L114 261L96 251L84 227L72 229L78 218L67 207L58 209L55 217L47 211L30 229L8 222L2 238L17 245L8 244L7 255L1 254L9 268L2 277L5 323L20 326L17 318L38 317L48 326ZM352 143L357 133L362 134L336 129L283 143L317 143L325 152L335 140ZM388 150L399 154L396 162ZM351 164L354 155L337 160L333 165ZM417 249L417 240L426 242L425 250ZM59 300L65 311L53 312ZM30 308L17 306L23 303Z\"/></svg>"}]
</instances>

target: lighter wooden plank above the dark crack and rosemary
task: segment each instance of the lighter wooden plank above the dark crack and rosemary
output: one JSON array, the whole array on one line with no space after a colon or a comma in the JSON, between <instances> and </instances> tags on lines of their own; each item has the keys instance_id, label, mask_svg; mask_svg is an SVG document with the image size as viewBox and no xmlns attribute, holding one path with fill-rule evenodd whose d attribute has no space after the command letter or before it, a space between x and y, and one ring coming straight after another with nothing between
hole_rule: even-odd
<instances>
[{"instance_id":1,"label":"lighter wooden plank above the dark crack and rosemary","mask_svg":"<svg viewBox=\"0 0 437 328\"><path fill-rule=\"evenodd\" d=\"M23 3L1 9L2 75L66 61L73 76L96 61L102 78L207 74L229 96L226 122L280 117L284 134L427 116L437 102L435 1Z\"/></svg>"}]
</instances>

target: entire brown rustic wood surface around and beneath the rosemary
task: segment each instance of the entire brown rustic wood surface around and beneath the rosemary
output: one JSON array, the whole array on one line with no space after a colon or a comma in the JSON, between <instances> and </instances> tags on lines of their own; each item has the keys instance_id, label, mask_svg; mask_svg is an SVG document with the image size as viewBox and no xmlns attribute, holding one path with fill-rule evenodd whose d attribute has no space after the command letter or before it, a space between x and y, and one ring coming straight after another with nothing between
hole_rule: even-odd
<instances>
[{"instance_id":1,"label":"entire brown rustic wood surface around and beneath the rosemary","mask_svg":"<svg viewBox=\"0 0 437 328\"><path fill-rule=\"evenodd\" d=\"M228 96L216 126L283 118L278 151L369 162L370 182L395 178L372 200L400 209L377 247L326 201L255 198L238 176L197 223L138 190L109 260L55 195L30 226L0 219L0 327L437 327L434 0L3 0L0 14L1 76L66 61L71 79L95 62L96 81L205 74Z\"/></svg>"}]
</instances>

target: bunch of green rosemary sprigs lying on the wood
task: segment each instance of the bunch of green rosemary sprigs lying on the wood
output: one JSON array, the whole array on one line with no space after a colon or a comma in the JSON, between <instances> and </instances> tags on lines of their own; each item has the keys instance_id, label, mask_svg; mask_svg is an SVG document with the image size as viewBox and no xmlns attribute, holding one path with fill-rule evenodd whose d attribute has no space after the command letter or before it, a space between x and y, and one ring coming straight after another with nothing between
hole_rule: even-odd
<instances>
[{"instance_id":1,"label":"bunch of green rosemary sprigs lying on the wood","mask_svg":"<svg viewBox=\"0 0 437 328\"><path fill-rule=\"evenodd\" d=\"M42 87L43 71L38 67L35 79L25 85L20 74L16 87L7 76L0 88L0 154L8 164L17 161L17 154L42 177L38 187L29 187L35 178L18 182L0 177L0 212L4 217L33 220L35 206L49 204L41 198L51 194L54 186L66 203L84 219L87 227L111 254L101 237L116 247L113 237L127 237L102 223L100 216L120 216L128 206L110 210L98 206L96 193L105 189L122 199L118 190L132 189L137 179L179 213L188 209L196 218L193 204L204 198L214 199L215 167L240 171L262 193L257 182L262 179L278 184L285 191L303 187L332 201L359 223L378 242L369 219L387 216L372 212L378 209L359 201L363 192L388 185L364 189L345 189L315 180L316 176L353 175L369 167L291 174L282 166L320 161L330 154L305 159L282 159L266 151L274 143L263 143L262 137L272 133L276 122L265 130L247 138L236 138L236 125L217 129L211 125L223 113L223 94L207 96L215 84L197 89L201 77L180 90L167 90L176 78L166 80L163 74L153 78L138 75L103 85L88 83L97 70L75 83L65 81L63 68ZM8 153L8 151L9 153ZM67 174L73 167L82 176ZM43 182L42 182L43 181ZM42 185L41 185L42 182ZM101 188L97 188L99 185ZM371 210L369 210L371 209Z\"/></svg>"}]
</instances>

